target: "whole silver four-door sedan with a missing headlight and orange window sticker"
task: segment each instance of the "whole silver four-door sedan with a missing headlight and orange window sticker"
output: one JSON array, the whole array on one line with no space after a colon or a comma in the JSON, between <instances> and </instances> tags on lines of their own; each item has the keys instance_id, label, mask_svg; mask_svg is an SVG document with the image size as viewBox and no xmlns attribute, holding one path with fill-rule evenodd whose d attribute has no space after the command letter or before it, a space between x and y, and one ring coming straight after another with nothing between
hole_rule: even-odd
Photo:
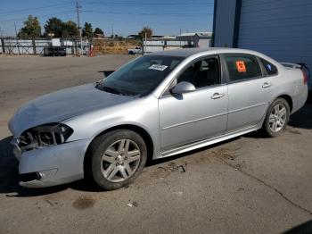
<instances>
[{"instance_id":1,"label":"whole silver four-door sedan with a missing headlight and orange window sticker","mask_svg":"<svg viewBox=\"0 0 312 234\"><path fill-rule=\"evenodd\" d=\"M133 182L147 159L253 130L277 137L308 96L298 64L242 49L198 48L136 58L92 84L37 97L9 122L20 184L88 176L104 189Z\"/></svg>"}]
</instances>

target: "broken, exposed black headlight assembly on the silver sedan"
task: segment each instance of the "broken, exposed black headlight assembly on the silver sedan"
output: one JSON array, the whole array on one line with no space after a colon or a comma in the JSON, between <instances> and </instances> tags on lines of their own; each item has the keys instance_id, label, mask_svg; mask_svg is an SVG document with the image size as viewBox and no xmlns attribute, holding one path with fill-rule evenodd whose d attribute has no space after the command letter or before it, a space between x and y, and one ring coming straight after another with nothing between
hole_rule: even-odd
<instances>
[{"instance_id":1,"label":"broken, exposed black headlight assembly on the silver sedan","mask_svg":"<svg viewBox=\"0 0 312 234\"><path fill-rule=\"evenodd\" d=\"M21 134L19 146L22 151L44 146L55 146L64 143L73 130L62 123L48 123L25 130Z\"/></svg>"}]
</instances>

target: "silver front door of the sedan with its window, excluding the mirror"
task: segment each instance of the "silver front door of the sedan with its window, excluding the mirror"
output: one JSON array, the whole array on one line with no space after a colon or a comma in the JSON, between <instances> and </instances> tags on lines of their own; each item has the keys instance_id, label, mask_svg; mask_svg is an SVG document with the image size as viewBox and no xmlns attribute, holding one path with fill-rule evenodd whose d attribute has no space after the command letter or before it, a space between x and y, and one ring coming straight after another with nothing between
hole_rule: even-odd
<instances>
[{"instance_id":1,"label":"silver front door of the sedan with its window, excluding the mirror","mask_svg":"<svg viewBox=\"0 0 312 234\"><path fill-rule=\"evenodd\" d=\"M228 96L220 80L218 57L206 57L187 65L168 88L187 81L193 92L171 95L167 90L160 97L162 152L225 133Z\"/></svg>"}]
</instances>

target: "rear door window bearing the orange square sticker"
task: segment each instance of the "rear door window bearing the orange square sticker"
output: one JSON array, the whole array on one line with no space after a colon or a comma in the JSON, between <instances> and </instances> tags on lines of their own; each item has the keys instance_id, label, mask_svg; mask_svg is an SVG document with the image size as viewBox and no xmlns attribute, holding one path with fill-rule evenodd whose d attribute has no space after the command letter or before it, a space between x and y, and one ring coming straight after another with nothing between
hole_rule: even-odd
<instances>
[{"instance_id":1,"label":"rear door window bearing the orange square sticker","mask_svg":"<svg viewBox=\"0 0 312 234\"><path fill-rule=\"evenodd\" d=\"M225 55L225 60L231 81L261 76L258 60L252 55L228 54Z\"/></svg>"}]
</instances>

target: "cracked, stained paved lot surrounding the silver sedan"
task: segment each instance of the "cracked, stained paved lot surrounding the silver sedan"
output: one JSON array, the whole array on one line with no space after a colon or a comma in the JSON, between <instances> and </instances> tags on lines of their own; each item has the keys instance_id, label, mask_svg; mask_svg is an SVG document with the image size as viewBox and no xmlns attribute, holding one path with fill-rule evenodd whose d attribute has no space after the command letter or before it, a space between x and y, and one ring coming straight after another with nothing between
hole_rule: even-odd
<instances>
[{"instance_id":1,"label":"cracked, stained paved lot surrounding the silver sedan","mask_svg":"<svg viewBox=\"0 0 312 234\"><path fill-rule=\"evenodd\" d=\"M0 56L0 233L312 232L312 104L279 138L254 132L158 160L128 188L19 187L7 130L17 108L133 58Z\"/></svg>"}]
</instances>

